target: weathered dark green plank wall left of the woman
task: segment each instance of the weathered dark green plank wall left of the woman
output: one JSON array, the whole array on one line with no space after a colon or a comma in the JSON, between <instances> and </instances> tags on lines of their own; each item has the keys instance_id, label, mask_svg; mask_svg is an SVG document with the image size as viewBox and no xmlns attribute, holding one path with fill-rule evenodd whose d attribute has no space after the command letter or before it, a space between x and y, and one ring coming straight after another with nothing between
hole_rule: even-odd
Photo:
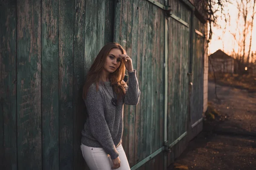
<instances>
[{"instance_id":1,"label":"weathered dark green plank wall left of the woman","mask_svg":"<svg viewBox=\"0 0 256 170\"><path fill-rule=\"evenodd\" d=\"M82 86L99 50L113 41L113 1L1 3L0 169L86 167Z\"/></svg>"}]
</instances>

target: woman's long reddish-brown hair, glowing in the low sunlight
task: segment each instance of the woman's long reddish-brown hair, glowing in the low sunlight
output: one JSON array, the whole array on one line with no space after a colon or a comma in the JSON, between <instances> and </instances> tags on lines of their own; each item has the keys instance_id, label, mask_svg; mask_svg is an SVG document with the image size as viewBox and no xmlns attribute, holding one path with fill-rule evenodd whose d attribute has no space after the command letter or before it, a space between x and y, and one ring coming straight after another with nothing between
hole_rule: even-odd
<instances>
[{"instance_id":1,"label":"woman's long reddish-brown hair, glowing in the low sunlight","mask_svg":"<svg viewBox=\"0 0 256 170\"><path fill-rule=\"evenodd\" d=\"M124 48L122 48L121 45L115 42L108 43L104 47L102 47L87 74L86 82L83 87L83 99L86 99L88 89L93 83L95 83L96 85L96 90L99 90L99 84L102 83L102 69L104 67L106 57L113 48L118 48L122 51L122 54L126 54ZM116 71L109 75L109 80L111 82L111 85L113 86L114 92L117 94L118 99L122 99L125 96L126 83L122 82L124 77L125 64L123 60L121 60L120 65L116 69Z\"/></svg>"}]
</instances>

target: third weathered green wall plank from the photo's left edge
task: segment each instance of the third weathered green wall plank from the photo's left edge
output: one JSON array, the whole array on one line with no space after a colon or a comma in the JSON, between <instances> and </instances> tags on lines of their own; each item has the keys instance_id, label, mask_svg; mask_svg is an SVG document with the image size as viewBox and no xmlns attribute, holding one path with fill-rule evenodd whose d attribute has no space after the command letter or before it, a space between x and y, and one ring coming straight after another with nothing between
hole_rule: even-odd
<instances>
[{"instance_id":1,"label":"third weathered green wall plank from the photo's left edge","mask_svg":"<svg viewBox=\"0 0 256 170\"><path fill-rule=\"evenodd\" d=\"M59 169L58 1L42 1L42 166Z\"/></svg>"}]
</instances>

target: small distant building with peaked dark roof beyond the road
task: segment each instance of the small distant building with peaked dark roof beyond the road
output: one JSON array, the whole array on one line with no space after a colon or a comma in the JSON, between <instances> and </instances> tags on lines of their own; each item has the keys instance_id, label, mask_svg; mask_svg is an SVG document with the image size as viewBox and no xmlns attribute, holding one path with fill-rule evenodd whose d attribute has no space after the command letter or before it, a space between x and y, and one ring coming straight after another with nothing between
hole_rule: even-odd
<instances>
[{"instance_id":1,"label":"small distant building with peaked dark roof beyond the road","mask_svg":"<svg viewBox=\"0 0 256 170\"><path fill-rule=\"evenodd\" d=\"M212 73L213 70L215 73L234 73L235 59L221 50L209 55L209 63L209 73Z\"/></svg>"}]
</instances>

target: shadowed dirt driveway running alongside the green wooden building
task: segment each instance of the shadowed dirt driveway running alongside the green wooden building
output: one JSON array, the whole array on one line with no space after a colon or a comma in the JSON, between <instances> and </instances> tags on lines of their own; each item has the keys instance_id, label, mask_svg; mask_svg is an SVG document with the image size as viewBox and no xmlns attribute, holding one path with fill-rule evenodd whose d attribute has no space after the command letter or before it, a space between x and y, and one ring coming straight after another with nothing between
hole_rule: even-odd
<instances>
[{"instance_id":1,"label":"shadowed dirt driveway running alongside the green wooden building","mask_svg":"<svg viewBox=\"0 0 256 170\"><path fill-rule=\"evenodd\" d=\"M208 100L221 113L168 170L256 170L256 95L209 82Z\"/></svg>"}]
</instances>

